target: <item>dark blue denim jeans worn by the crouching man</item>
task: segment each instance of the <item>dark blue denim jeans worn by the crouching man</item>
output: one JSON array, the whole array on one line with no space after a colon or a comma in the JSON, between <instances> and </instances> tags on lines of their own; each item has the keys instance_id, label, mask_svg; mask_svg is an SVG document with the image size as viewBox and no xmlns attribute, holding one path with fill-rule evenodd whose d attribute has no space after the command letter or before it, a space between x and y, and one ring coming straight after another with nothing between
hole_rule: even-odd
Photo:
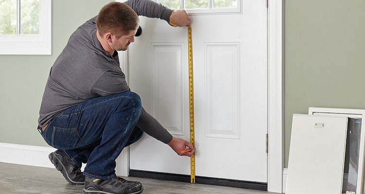
<instances>
[{"instance_id":1,"label":"dark blue denim jeans worn by the crouching man","mask_svg":"<svg viewBox=\"0 0 365 194\"><path fill-rule=\"evenodd\" d=\"M85 176L109 179L116 176L115 160L123 148L142 137L136 126L141 111L141 99L133 92L96 97L65 110L41 134L77 166L87 163Z\"/></svg>"}]
</instances>

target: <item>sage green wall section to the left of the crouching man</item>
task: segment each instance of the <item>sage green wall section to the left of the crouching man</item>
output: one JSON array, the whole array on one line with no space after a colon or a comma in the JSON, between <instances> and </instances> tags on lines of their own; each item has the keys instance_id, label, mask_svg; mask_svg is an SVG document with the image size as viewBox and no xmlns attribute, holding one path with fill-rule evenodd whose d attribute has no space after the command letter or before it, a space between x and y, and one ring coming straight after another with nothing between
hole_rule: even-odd
<instances>
[{"instance_id":1,"label":"sage green wall section to the left of the crouching man","mask_svg":"<svg viewBox=\"0 0 365 194\"><path fill-rule=\"evenodd\" d=\"M71 33L111 0L53 0L53 54L0 55L0 142L48 146L37 119L49 70Z\"/></svg>"}]
</instances>

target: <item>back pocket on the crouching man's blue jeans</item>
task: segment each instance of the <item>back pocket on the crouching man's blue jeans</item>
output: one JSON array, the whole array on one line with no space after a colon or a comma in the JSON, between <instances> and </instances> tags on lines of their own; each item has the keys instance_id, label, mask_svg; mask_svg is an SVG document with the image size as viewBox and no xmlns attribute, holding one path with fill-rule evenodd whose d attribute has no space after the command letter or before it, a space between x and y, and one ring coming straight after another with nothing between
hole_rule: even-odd
<instances>
[{"instance_id":1,"label":"back pocket on the crouching man's blue jeans","mask_svg":"<svg viewBox=\"0 0 365 194\"><path fill-rule=\"evenodd\" d=\"M77 129L53 128L52 147L57 149L73 149L80 143L81 137Z\"/></svg>"}]
</instances>

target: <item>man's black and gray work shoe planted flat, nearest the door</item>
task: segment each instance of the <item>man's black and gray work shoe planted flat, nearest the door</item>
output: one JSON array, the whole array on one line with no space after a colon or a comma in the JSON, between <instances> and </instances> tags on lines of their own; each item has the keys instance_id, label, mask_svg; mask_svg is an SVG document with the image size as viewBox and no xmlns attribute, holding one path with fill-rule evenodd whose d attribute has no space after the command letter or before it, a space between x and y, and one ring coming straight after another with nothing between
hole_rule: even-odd
<instances>
[{"instance_id":1,"label":"man's black and gray work shoe planted flat, nearest the door","mask_svg":"<svg viewBox=\"0 0 365 194\"><path fill-rule=\"evenodd\" d=\"M141 194L143 186L140 182L128 181L114 177L106 180L85 177L83 194Z\"/></svg>"}]
</instances>

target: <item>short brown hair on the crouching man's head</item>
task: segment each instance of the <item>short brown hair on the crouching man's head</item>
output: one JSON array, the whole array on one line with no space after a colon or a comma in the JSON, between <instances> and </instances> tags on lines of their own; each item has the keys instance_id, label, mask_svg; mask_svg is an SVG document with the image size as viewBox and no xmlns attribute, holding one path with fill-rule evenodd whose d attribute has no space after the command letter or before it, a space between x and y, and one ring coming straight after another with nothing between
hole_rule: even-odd
<instances>
[{"instance_id":1,"label":"short brown hair on the crouching man's head","mask_svg":"<svg viewBox=\"0 0 365 194\"><path fill-rule=\"evenodd\" d=\"M96 29L102 36L112 32L117 38L127 35L139 26L138 15L127 4L110 2L101 8L96 18Z\"/></svg>"}]
</instances>

